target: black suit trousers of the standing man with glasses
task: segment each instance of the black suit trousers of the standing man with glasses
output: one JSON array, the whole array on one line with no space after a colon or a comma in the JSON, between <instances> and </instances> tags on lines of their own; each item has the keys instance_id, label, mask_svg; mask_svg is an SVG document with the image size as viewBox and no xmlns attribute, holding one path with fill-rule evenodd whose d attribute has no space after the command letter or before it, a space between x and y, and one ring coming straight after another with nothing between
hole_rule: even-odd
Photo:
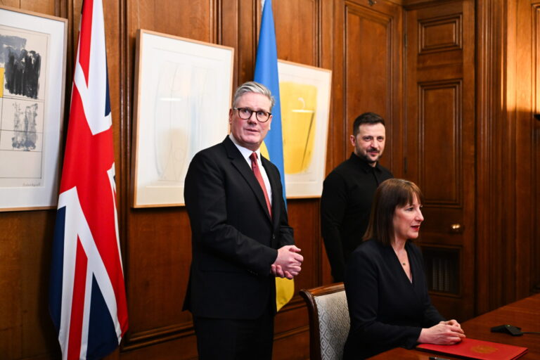
<instances>
[{"instance_id":1,"label":"black suit trousers of the standing man with glasses","mask_svg":"<svg viewBox=\"0 0 540 360\"><path fill-rule=\"evenodd\" d=\"M197 350L201 360L271 360L274 314L258 319L213 319L194 316Z\"/></svg>"}]
</instances>

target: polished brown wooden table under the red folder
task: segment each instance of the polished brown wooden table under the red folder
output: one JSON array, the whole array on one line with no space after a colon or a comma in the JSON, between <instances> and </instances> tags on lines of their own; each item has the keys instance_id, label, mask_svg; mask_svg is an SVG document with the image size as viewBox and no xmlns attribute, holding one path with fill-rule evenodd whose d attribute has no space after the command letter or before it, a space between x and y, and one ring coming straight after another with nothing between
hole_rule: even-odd
<instances>
[{"instance_id":1,"label":"polished brown wooden table under the red folder","mask_svg":"<svg viewBox=\"0 0 540 360\"><path fill-rule=\"evenodd\" d=\"M489 311L486 314L477 316L461 324L468 338L527 347L529 351L520 357L520 360L540 360L540 334L511 336L506 333L491 333L491 327L503 324L518 326L522 331L540 331L540 294L499 307L499 309ZM440 356L444 359L459 359L454 356L435 355L428 352L420 352L419 350L407 350L402 347L383 352L369 359L428 360L430 356Z\"/></svg>"}]
</instances>

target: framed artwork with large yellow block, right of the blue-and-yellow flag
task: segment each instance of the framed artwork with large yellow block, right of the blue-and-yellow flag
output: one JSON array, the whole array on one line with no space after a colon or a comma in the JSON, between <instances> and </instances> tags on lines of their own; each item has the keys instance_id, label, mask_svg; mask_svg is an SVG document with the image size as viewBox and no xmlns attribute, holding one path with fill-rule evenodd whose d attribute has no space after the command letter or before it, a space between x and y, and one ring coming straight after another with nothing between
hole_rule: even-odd
<instances>
[{"instance_id":1,"label":"framed artwork with large yellow block, right of the blue-and-yellow flag","mask_svg":"<svg viewBox=\"0 0 540 360\"><path fill-rule=\"evenodd\" d=\"M331 70L278 60L283 165L287 198L323 191Z\"/></svg>"}]
</instances>

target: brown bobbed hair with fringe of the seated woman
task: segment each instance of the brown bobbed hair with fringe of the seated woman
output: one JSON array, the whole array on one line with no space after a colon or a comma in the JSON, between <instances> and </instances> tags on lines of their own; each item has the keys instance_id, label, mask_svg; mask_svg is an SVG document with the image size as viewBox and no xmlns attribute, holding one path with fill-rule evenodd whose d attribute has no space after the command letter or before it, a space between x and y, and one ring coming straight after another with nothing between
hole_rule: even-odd
<instances>
[{"instance_id":1,"label":"brown bobbed hair with fringe of the seated woman","mask_svg":"<svg viewBox=\"0 0 540 360\"><path fill-rule=\"evenodd\" d=\"M374 238L385 245L394 241L394 212L396 207L412 204L414 198L421 204L424 201L420 188L412 181L387 179L380 183L369 217L368 229L364 240Z\"/></svg>"}]
</instances>

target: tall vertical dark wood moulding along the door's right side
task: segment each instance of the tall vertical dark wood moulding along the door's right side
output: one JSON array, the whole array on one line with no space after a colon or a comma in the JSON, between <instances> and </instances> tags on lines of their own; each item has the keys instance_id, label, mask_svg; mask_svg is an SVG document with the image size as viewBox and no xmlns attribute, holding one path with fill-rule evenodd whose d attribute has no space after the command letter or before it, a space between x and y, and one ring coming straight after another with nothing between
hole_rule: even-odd
<instances>
[{"instance_id":1,"label":"tall vertical dark wood moulding along the door's right side","mask_svg":"<svg viewBox=\"0 0 540 360\"><path fill-rule=\"evenodd\" d=\"M499 223L499 204L496 190L501 188L499 161L492 161L497 150L494 139L496 124L501 117L501 71L500 57L503 8L501 1L477 1L477 244L476 244L476 312L482 314L500 302L501 285L491 284L494 276L491 252L496 249ZM497 157L500 159L500 157ZM480 205L482 204L482 205ZM491 209L492 211L487 211ZM480 275L481 274L481 275Z\"/></svg>"}]
</instances>

